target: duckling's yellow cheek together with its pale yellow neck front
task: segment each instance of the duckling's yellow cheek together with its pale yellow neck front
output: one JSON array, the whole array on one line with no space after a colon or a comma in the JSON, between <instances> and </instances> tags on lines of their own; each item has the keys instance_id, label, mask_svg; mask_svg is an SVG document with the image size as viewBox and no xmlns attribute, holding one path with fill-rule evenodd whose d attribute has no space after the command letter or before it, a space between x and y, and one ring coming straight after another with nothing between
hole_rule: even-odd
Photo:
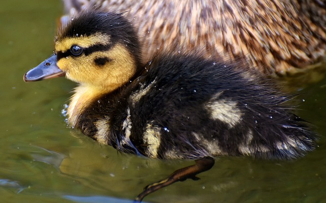
<instances>
[{"instance_id":1,"label":"duckling's yellow cheek together with its pale yellow neck front","mask_svg":"<svg viewBox=\"0 0 326 203\"><path fill-rule=\"evenodd\" d=\"M102 57L110 61L98 66L94 60ZM110 50L96 51L87 56L82 54L78 57L64 57L57 65L66 73L66 78L80 83L68 107L70 126L75 125L78 116L94 99L126 84L137 69L134 57L121 44L116 44Z\"/></svg>"}]
</instances>

